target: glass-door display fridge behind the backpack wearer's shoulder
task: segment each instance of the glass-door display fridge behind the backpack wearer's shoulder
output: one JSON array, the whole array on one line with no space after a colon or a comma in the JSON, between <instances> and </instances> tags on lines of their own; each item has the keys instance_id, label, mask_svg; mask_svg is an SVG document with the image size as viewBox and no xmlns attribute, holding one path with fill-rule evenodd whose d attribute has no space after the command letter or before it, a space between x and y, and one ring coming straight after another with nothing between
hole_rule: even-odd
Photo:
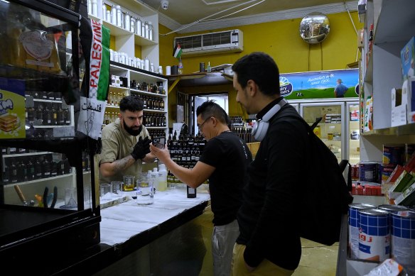
<instances>
[{"instance_id":1,"label":"glass-door display fridge behind the backpack wearer's shoulder","mask_svg":"<svg viewBox=\"0 0 415 276\"><path fill-rule=\"evenodd\" d=\"M360 161L359 101L345 99L289 100L298 104L300 115L312 125L316 135L335 154L338 162L349 160L351 165Z\"/></svg>"}]
</instances>

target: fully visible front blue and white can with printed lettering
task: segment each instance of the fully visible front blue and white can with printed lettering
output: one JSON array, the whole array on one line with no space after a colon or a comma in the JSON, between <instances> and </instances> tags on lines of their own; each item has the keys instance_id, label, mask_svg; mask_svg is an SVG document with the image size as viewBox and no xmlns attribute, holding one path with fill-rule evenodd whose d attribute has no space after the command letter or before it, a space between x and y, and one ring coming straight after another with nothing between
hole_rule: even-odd
<instances>
[{"instance_id":1,"label":"fully visible front blue and white can with printed lettering","mask_svg":"<svg viewBox=\"0 0 415 276\"><path fill-rule=\"evenodd\" d=\"M359 259L383 262L390 258L389 212L382 209L359 211Z\"/></svg>"}]
</instances>

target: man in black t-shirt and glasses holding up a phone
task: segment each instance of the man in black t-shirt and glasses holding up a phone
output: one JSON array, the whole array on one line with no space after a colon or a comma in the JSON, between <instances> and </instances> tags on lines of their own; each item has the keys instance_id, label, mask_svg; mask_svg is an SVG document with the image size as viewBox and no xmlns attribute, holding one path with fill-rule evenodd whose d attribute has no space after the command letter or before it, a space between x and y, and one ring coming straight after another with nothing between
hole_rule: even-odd
<instances>
[{"instance_id":1,"label":"man in black t-shirt and glasses holding up a phone","mask_svg":"<svg viewBox=\"0 0 415 276\"><path fill-rule=\"evenodd\" d=\"M242 204L242 188L247 182L247 167L252 154L244 141L228 127L229 118L222 107L205 101L196 110L198 128L208 143L193 169L180 167L168 149L151 145L150 150L173 175L192 188L209 179L213 212L212 255L214 275L230 275L232 250L239 226L237 211Z\"/></svg>"}]
</instances>

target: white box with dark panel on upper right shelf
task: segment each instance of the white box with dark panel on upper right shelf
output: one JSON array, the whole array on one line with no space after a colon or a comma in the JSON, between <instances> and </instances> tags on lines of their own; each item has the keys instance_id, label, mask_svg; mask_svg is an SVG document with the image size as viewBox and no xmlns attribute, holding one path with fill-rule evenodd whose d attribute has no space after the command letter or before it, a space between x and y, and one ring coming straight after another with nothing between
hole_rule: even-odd
<instances>
[{"instance_id":1,"label":"white box with dark panel on upper right shelf","mask_svg":"<svg viewBox=\"0 0 415 276\"><path fill-rule=\"evenodd\" d=\"M406 109L408 102L407 87L392 88L392 121L391 126L406 125Z\"/></svg>"}]
</instances>

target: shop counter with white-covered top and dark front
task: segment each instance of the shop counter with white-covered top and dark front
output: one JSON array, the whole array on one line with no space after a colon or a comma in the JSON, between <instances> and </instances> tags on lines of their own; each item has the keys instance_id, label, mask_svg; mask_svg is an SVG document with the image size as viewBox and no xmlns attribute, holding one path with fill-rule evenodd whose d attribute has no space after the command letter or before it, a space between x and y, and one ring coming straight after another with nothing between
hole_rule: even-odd
<instances>
[{"instance_id":1,"label":"shop counter with white-covered top and dark front","mask_svg":"<svg viewBox=\"0 0 415 276\"><path fill-rule=\"evenodd\" d=\"M209 203L205 189L193 199L172 189L156 192L151 205L129 200L104 208L100 243L85 252L51 252L38 275L198 275L207 250L194 220Z\"/></svg>"}]
</instances>

